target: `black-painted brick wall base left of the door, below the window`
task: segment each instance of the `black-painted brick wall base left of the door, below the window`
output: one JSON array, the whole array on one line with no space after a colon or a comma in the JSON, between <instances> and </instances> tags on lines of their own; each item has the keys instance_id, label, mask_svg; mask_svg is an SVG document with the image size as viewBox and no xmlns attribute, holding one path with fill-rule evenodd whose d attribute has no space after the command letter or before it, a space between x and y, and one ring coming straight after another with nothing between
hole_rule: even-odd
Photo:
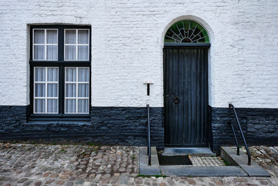
<instances>
[{"instance_id":1,"label":"black-painted brick wall base left of the door, below the window","mask_svg":"<svg viewBox=\"0 0 278 186\"><path fill-rule=\"evenodd\" d=\"M0 139L69 139L147 146L146 107L92 107L91 121L27 121L28 107L0 106ZM152 146L163 148L163 108L151 107Z\"/></svg>"}]
</instances>

